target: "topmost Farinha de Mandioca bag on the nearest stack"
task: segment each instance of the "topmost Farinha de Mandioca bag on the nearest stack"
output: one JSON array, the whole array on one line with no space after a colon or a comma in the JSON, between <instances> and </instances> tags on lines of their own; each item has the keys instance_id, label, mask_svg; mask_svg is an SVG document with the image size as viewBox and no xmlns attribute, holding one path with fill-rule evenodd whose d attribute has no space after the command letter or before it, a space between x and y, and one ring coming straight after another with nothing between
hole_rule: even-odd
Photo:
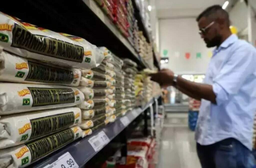
<instances>
[{"instance_id":1,"label":"topmost Farinha de Mandioca bag on the nearest stack","mask_svg":"<svg viewBox=\"0 0 256 168\"><path fill-rule=\"evenodd\" d=\"M95 57L102 57L101 54L93 55L97 52L90 44L70 40L61 33L39 28L6 14L0 13L0 24L6 27L0 30L3 38L0 45L20 57L77 68L94 68L98 60Z\"/></svg>"}]
</instances>

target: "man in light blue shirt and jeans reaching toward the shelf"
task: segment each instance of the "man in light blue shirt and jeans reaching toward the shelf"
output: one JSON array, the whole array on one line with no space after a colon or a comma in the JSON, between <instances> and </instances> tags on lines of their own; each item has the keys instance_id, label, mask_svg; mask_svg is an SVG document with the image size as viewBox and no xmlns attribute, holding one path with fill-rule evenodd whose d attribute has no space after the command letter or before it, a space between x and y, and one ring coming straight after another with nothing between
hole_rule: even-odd
<instances>
[{"instance_id":1,"label":"man in light blue shirt and jeans reaching toward the shelf","mask_svg":"<svg viewBox=\"0 0 256 168\"><path fill-rule=\"evenodd\" d=\"M202 100L195 135L202 168L252 168L255 49L231 34L229 15L221 6L210 6L197 21L206 46L216 47L205 84L182 79L168 69L152 74L151 79Z\"/></svg>"}]
</instances>

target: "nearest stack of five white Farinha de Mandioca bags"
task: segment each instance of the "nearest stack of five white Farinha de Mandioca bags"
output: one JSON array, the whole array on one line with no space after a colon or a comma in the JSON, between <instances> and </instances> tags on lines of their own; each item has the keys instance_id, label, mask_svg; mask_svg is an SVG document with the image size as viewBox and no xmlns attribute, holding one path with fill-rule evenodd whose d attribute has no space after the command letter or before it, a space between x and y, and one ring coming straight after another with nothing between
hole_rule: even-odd
<instances>
[{"instance_id":1,"label":"nearest stack of five white Farinha de Mandioca bags","mask_svg":"<svg viewBox=\"0 0 256 168\"><path fill-rule=\"evenodd\" d=\"M104 55L80 37L6 14L0 25L0 167L26 167L82 137L77 106L88 95L76 87L85 82L81 69Z\"/></svg>"}]
</instances>

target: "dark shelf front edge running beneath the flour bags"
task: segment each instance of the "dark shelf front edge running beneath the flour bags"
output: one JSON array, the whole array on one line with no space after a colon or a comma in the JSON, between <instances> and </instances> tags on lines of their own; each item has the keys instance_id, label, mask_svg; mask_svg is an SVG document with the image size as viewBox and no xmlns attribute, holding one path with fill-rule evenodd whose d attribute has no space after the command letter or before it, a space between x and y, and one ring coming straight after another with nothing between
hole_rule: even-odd
<instances>
[{"instance_id":1,"label":"dark shelf front edge running beneath the flour bags","mask_svg":"<svg viewBox=\"0 0 256 168\"><path fill-rule=\"evenodd\" d=\"M156 98L158 98L158 96L156 96ZM129 119L128 125L134 119L136 119L138 115L145 111L146 108L150 107L151 104L154 104L154 99L150 100L150 102L146 104L144 107L135 108L133 111L130 111L128 114L126 114L125 116ZM78 166L82 167L86 164L86 162L90 160L90 158L93 158L94 155L98 153L98 151L96 152L88 142L91 137L97 135L101 131L104 131L111 141L124 129L125 126L123 125L121 118L119 118L114 123L110 123L106 125L106 127L99 129L98 131L94 131L93 135L90 135L84 139L78 139L74 143L71 143L70 145L63 147L61 150L58 150L53 154L50 154L46 158L42 158L41 161L35 162L29 167L43 168L45 166L49 166L53 162L57 161L58 158L60 158L63 154L66 154L66 152L69 152L73 156L75 162L78 163Z\"/></svg>"}]
</instances>

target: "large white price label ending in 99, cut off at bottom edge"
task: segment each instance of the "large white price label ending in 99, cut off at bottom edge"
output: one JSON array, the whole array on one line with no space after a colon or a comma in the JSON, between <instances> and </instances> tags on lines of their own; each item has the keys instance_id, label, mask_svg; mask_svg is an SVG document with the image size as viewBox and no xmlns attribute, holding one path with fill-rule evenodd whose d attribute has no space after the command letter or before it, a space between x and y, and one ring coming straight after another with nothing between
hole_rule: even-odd
<instances>
[{"instance_id":1,"label":"large white price label ending in 99, cut off at bottom edge","mask_svg":"<svg viewBox=\"0 0 256 168\"><path fill-rule=\"evenodd\" d=\"M59 157L57 161L45 166L44 168L79 168L79 166L70 152L66 152L66 154Z\"/></svg>"}]
</instances>

